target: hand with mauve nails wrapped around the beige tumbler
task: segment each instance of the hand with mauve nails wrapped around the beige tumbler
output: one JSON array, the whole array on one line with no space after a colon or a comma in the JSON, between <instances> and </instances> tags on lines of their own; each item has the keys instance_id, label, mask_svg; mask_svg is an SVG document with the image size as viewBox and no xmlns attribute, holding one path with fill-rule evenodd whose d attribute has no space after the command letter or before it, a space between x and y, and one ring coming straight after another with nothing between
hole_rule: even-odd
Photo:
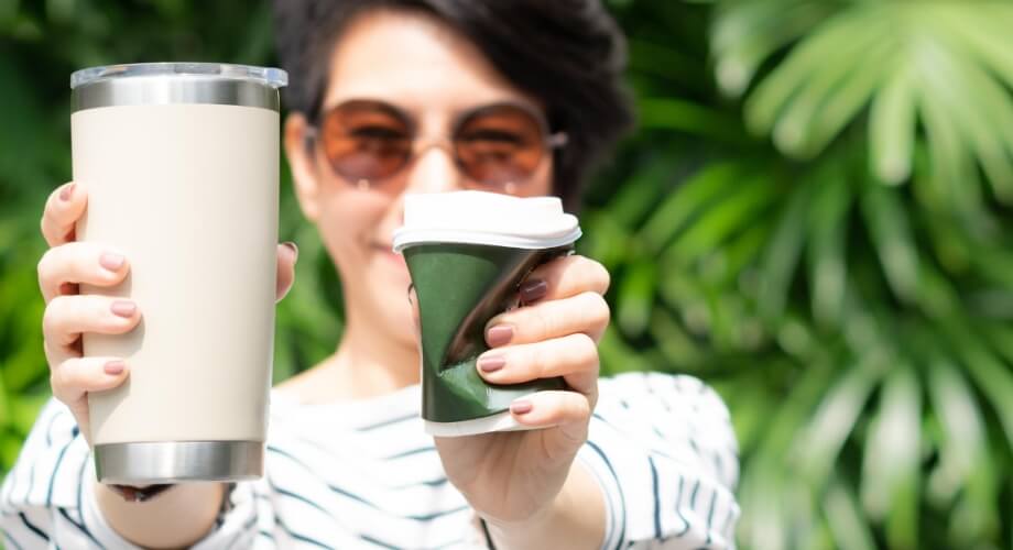
<instances>
[{"instance_id":1,"label":"hand with mauve nails wrapped around the beige tumbler","mask_svg":"<svg viewBox=\"0 0 1013 550\"><path fill-rule=\"evenodd\" d=\"M39 262L39 286L46 302L42 329L53 395L70 408L90 446L88 393L119 386L130 365L123 358L81 356L81 334L129 332L141 311L127 299L78 294L80 283L112 286L130 271L129 258L113 248L76 242L75 226L87 205L87 189L75 183L61 186L46 200L42 235L50 250ZM294 244L277 245L279 300L292 287L297 256Z\"/></svg>"}]
</instances>

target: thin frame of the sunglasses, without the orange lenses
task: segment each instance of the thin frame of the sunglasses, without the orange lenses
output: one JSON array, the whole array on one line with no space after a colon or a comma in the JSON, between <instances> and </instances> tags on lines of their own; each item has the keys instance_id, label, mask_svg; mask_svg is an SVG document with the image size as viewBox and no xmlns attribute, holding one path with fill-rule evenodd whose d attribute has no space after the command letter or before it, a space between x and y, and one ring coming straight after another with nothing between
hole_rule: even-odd
<instances>
[{"instance_id":1,"label":"thin frame of the sunglasses, without the orange lenses","mask_svg":"<svg viewBox=\"0 0 1013 550\"><path fill-rule=\"evenodd\" d=\"M403 122L405 124L405 128L407 129L407 134L410 136L410 141L412 144L411 154L409 155L409 157L404 161L404 163L396 170L394 170L390 175L381 177L381 178L359 178L358 180L355 180L355 182L352 182L347 176L341 174L340 170L338 170L338 168L335 167L330 158L327 157L327 153L324 151L320 151L323 153L324 161L327 163L328 167L330 168L330 172L335 176L345 180L349 186L357 187L360 190L368 190L374 187L382 188L384 182L393 179L397 177L399 175L403 174L404 170L406 170L415 162L415 160L418 158L418 156L423 152L428 151L429 147L433 147L433 146L442 146L445 151L447 151L447 153L454 158L454 164L455 166L457 166L457 169L461 173L461 175L465 176L468 180L471 180L472 178L471 176L468 175L468 172L465 168L464 162L461 161L460 155L458 154L458 151L457 151L457 145L456 145L457 136L460 133L464 125L467 122L471 121L475 117L480 116L486 111L500 109L503 107L518 109L520 111L523 111L529 117L531 117L531 119L534 120L535 123L538 125L538 132L542 136L542 147L541 147L542 156L538 157L538 163L535 165L535 167L532 169L532 173L529 174L524 180L509 183L506 193L511 193L510 191L511 186L526 184L531 179L531 177L534 176L537 169L542 166L542 163L545 162L545 157L548 156L546 153L551 154L553 151L566 146L567 142L569 141L569 138L566 134L566 132L562 132L562 131L551 132L548 128L548 122L541 114L541 112L536 111L535 109L531 107L527 107L524 103L520 103L515 101L497 101L497 102L487 103L487 105L482 105L479 107L468 109L461 112L460 114L458 114L457 117L455 117L454 124L451 125L451 131L449 135L445 135L439 139L424 140L420 138L418 135L418 124L416 120L413 117L411 117L407 112L405 112L403 109L392 103L389 103L386 101L382 101L378 99L352 98L352 99L341 101L340 103L335 105L333 107L328 107L327 109L322 109L319 114L315 118L315 120L312 123L307 124L306 132L305 132L305 140L306 140L307 148L315 151L317 148L317 145L319 145L320 148L323 148L324 139L320 138L320 135L323 134L322 127L324 122L326 121L327 117L330 116L331 112L338 109L346 108L350 105L356 105L356 103L375 106L377 108L379 108L379 110L385 111L388 114L391 114L392 117L395 117L399 121ZM481 182L477 182L477 180L476 183L482 184Z\"/></svg>"}]
</instances>

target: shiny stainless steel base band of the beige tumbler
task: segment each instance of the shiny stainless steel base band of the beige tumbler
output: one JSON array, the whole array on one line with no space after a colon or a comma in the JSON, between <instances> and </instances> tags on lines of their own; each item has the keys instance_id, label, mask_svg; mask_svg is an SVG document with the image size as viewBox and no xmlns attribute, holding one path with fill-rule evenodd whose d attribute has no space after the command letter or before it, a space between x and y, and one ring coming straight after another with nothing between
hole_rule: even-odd
<instances>
[{"instance_id":1,"label":"shiny stainless steel base band of the beige tumbler","mask_svg":"<svg viewBox=\"0 0 1013 550\"><path fill-rule=\"evenodd\" d=\"M101 483L150 485L194 481L235 482L263 475L262 441L170 441L95 446Z\"/></svg>"}]
</instances>

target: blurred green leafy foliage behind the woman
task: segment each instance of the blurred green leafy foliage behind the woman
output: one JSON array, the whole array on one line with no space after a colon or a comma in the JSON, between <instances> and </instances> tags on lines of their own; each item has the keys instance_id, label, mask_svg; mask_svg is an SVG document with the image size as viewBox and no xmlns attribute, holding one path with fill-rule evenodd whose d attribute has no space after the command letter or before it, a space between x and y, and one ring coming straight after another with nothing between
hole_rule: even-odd
<instances>
[{"instance_id":1,"label":"blurred green leafy foliage behind the woman","mask_svg":"<svg viewBox=\"0 0 1013 550\"><path fill-rule=\"evenodd\" d=\"M582 252L616 373L690 373L741 443L747 549L1013 548L1013 4L610 1L639 129ZM70 177L68 76L272 64L255 1L0 0L0 474L48 397L35 264ZM341 292L301 246L275 377L329 354Z\"/></svg>"}]
</instances>

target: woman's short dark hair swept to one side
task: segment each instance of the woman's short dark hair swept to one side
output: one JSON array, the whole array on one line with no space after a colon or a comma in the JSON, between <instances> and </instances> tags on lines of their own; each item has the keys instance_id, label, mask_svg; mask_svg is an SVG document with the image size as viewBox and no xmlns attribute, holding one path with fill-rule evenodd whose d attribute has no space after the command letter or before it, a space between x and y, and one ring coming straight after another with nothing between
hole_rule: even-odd
<instances>
[{"instance_id":1,"label":"woman's short dark hair swept to one side","mask_svg":"<svg viewBox=\"0 0 1013 550\"><path fill-rule=\"evenodd\" d=\"M514 86L545 105L555 152L553 191L579 206L590 168L632 122L622 84L625 41L598 0L275 0L275 43L288 72L285 100L319 114L330 53L344 26L372 8L417 9L473 42Z\"/></svg>"}]
</instances>

